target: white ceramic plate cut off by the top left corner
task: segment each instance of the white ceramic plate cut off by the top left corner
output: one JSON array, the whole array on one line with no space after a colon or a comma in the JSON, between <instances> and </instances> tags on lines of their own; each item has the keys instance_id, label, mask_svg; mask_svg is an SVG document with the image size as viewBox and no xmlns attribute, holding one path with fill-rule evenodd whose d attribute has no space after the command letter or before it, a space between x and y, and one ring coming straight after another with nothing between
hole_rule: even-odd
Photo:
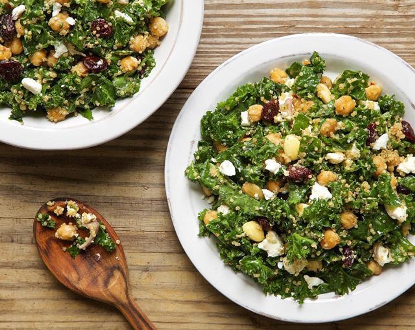
<instances>
[{"instance_id":1,"label":"white ceramic plate cut off by the top left corner","mask_svg":"<svg viewBox=\"0 0 415 330\"><path fill-rule=\"evenodd\" d=\"M133 129L155 112L183 80L198 47L203 8L203 0L172 0L166 5L169 31L155 51L156 67L132 98L118 100L112 110L93 110L93 121L78 116L52 123L43 116L27 116L21 125L8 119L10 108L0 108L0 141L29 149L80 149Z\"/></svg>"}]
</instances>

